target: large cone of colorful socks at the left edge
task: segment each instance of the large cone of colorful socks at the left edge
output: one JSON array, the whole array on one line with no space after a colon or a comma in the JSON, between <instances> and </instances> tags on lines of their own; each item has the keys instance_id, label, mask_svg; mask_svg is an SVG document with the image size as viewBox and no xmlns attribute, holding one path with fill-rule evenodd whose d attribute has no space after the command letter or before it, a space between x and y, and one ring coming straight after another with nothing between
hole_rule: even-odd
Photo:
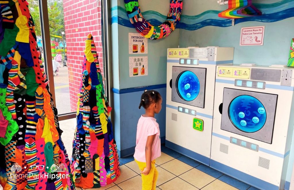
<instances>
[{"instance_id":1,"label":"large cone of colorful socks at the left edge","mask_svg":"<svg viewBox=\"0 0 294 190\"><path fill-rule=\"evenodd\" d=\"M0 184L75 189L28 5L0 0Z\"/></svg>"}]
</instances>

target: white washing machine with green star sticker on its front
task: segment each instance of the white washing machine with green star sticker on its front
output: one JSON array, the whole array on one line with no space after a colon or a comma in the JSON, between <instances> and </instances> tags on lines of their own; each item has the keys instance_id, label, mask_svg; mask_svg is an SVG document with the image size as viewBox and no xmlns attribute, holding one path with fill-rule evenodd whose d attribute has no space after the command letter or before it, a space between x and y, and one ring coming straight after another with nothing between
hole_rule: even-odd
<instances>
[{"instance_id":1,"label":"white washing machine with green star sticker on its front","mask_svg":"<svg viewBox=\"0 0 294 190\"><path fill-rule=\"evenodd\" d=\"M217 64L234 48L168 49L166 147L209 165Z\"/></svg>"}]
</instances>

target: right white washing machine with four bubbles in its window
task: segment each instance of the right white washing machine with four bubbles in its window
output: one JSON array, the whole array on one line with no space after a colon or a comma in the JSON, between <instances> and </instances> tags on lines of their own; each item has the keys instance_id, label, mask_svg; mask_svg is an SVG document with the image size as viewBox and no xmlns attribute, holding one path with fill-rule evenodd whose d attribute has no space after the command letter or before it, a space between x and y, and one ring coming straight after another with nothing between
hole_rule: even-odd
<instances>
[{"instance_id":1,"label":"right white washing machine with four bubbles in its window","mask_svg":"<svg viewBox=\"0 0 294 190\"><path fill-rule=\"evenodd\" d=\"M278 65L217 66L211 167L259 189L284 189L293 72Z\"/></svg>"}]
</instances>

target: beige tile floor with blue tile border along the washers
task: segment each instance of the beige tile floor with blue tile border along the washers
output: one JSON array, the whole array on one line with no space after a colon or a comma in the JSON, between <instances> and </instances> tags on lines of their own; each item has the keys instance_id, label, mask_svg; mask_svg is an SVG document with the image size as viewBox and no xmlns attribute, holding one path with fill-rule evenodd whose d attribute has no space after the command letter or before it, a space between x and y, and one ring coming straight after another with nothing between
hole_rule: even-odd
<instances>
[{"instance_id":1,"label":"beige tile floor with blue tile border along the washers","mask_svg":"<svg viewBox=\"0 0 294 190\"><path fill-rule=\"evenodd\" d=\"M161 151L161 157L156 159L159 172L156 190L258 190L169 148L163 146ZM120 163L121 176L99 190L141 189L140 170L133 156L120 158Z\"/></svg>"}]
</instances>

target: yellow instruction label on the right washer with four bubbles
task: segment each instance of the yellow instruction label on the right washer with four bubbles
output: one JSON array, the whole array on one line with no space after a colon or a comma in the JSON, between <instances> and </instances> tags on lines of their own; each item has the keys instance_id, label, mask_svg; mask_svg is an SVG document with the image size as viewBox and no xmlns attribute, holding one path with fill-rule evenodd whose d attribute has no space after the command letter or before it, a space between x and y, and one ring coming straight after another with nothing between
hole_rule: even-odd
<instances>
[{"instance_id":1,"label":"yellow instruction label on the right washer with four bubbles","mask_svg":"<svg viewBox=\"0 0 294 190\"><path fill-rule=\"evenodd\" d=\"M218 67L218 76L237 79L249 79L250 68Z\"/></svg>"}]
</instances>

